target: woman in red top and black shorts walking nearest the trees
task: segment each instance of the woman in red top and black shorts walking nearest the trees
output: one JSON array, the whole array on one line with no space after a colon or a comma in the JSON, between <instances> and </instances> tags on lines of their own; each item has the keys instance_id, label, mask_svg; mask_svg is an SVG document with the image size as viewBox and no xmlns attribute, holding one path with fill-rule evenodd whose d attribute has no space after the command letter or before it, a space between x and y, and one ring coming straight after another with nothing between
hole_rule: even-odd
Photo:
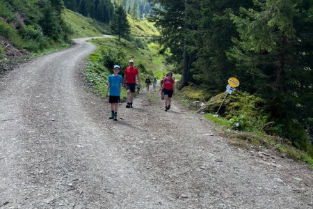
<instances>
[{"instance_id":1,"label":"woman in red top and black shorts walking nearest the trees","mask_svg":"<svg viewBox=\"0 0 313 209\"><path fill-rule=\"evenodd\" d=\"M175 80L172 79L172 72L168 72L166 74L166 78L163 79L163 94L164 94L164 100L166 109L165 111L168 111L170 109L170 102L172 101L172 95L175 93Z\"/></svg>"}]
</instances>

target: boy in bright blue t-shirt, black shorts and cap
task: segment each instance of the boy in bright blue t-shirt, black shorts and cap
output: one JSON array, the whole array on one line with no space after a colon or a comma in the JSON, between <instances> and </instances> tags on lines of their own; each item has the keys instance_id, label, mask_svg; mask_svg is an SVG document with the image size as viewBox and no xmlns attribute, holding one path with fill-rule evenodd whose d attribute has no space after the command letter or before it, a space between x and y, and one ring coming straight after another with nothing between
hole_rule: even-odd
<instances>
[{"instance_id":1,"label":"boy in bright blue t-shirt, black shorts and cap","mask_svg":"<svg viewBox=\"0 0 313 209\"><path fill-rule=\"evenodd\" d=\"M120 72L120 66L114 65L113 74L108 77L108 86L106 87L106 98L110 91L109 103L111 104L111 116L109 119L118 121L118 102L120 102L120 91L122 89L123 78L118 75Z\"/></svg>"}]
</instances>

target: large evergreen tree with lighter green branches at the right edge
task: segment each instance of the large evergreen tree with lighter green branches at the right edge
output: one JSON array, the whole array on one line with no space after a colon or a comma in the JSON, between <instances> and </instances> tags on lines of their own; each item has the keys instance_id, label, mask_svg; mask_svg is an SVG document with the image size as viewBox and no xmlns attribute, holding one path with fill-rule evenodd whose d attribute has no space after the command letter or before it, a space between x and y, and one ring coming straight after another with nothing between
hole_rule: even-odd
<instances>
[{"instance_id":1,"label":"large evergreen tree with lighter green branches at the right edge","mask_svg":"<svg viewBox=\"0 0 313 209\"><path fill-rule=\"evenodd\" d=\"M255 4L257 10L241 8L241 16L232 16L240 38L234 39L228 56L236 61L241 77L249 78L250 88L268 100L272 118L284 124L278 126L279 134L305 149L301 126L313 118L312 81L305 79L313 75L312 1Z\"/></svg>"}]
</instances>

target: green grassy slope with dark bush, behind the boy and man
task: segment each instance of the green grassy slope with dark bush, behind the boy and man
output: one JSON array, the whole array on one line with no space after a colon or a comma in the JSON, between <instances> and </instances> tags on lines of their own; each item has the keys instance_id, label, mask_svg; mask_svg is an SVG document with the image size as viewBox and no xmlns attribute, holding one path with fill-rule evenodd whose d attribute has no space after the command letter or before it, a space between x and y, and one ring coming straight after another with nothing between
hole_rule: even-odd
<instances>
[{"instance_id":1,"label":"green grassy slope with dark bush, behind the boy and man","mask_svg":"<svg viewBox=\"0 0 313 209\"><path fill-rule=\"evenodd\" d=\"M107 77L112 73L114 64L121 66L120 74L124 74L129 59L134 59L135 66L139 69L141 81L145 77L157 77L161 79L163 73L171 66L163 63L163 56L158 54L158 45L147 42L145 38L137 38L133 41L117 38L98 38L90 40L98 49L88 58L88 68L84 75L92 89L102 97L106 91ZM125 100L125 89L122 89L121 99Z\"/></svg>"}]
</instances>

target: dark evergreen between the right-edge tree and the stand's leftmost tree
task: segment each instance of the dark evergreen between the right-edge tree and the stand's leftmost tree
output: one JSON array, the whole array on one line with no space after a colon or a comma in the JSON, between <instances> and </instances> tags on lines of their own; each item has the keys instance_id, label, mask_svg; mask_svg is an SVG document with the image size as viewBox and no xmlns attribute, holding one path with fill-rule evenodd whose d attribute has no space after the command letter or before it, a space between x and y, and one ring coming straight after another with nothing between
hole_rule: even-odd
<instances>
[{"instance_id":1,"label":"dark evergreen between the right-edge tree and the stand's leftmost tree","mask_svg":"<svg viewBox=\"0 0 313 209\"><path fill-rule=\"evenodd\" d=\"M191 72L195 84L223 91L225 80L237 76L234 64L227 60L226 52L234 45L232 37L238 36L230 14L237 14L240 6L250 8L252 0L193 1L195 15L190 20L197 25L197 29L191 33L197 57Z\"/></svg>"}]
</instances>

